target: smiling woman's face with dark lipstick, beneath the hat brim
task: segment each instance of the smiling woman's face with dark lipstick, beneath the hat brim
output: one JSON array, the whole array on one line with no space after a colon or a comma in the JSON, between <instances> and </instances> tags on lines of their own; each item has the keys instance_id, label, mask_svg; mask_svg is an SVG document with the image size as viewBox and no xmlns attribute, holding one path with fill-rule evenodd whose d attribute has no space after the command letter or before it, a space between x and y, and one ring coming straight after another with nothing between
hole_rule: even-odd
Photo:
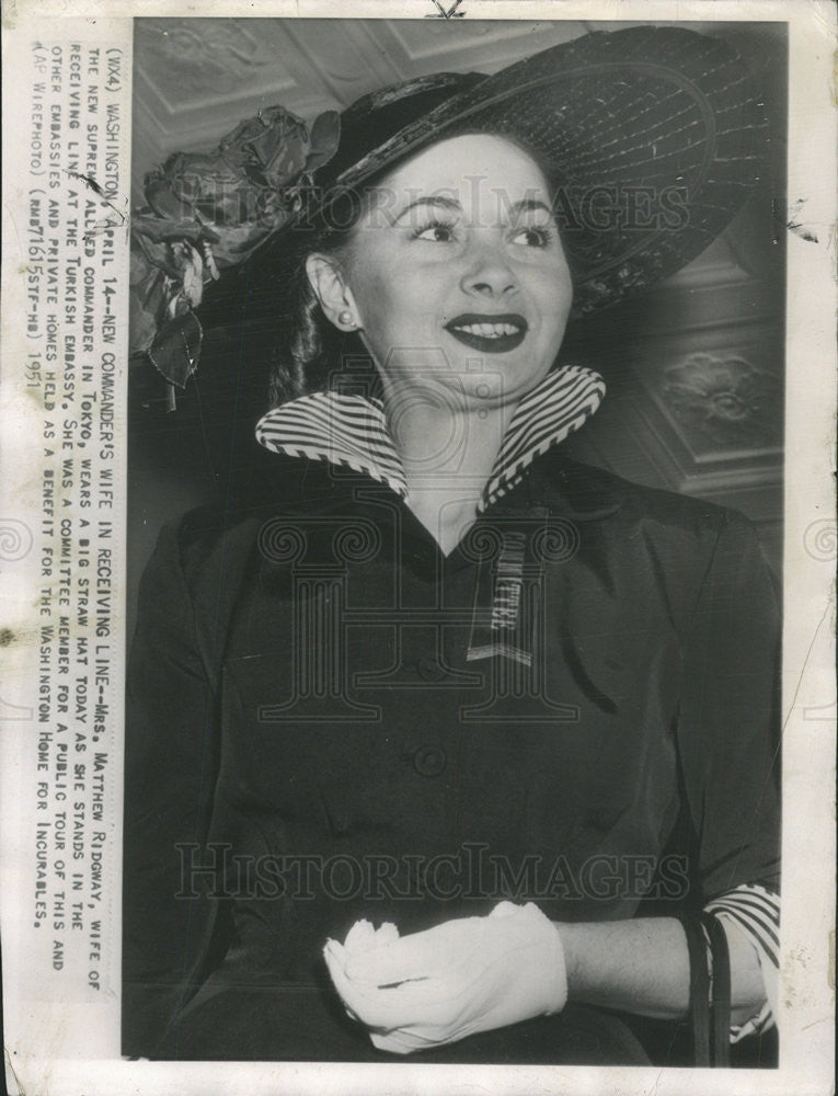
<instances>
[{"instance_id":1,"label":"smiling woman's face with dark lipstick, beneath the hat brim","mask_svg":"<svg viewBox=\"0 0 838 1096\"><path fill-rule=\"evenodd\" d=\"M384 381L498 406L549 372L573 287L547 182L517 146L454 137L379 184L344 267Z\"/></svg>"}]
</instances>

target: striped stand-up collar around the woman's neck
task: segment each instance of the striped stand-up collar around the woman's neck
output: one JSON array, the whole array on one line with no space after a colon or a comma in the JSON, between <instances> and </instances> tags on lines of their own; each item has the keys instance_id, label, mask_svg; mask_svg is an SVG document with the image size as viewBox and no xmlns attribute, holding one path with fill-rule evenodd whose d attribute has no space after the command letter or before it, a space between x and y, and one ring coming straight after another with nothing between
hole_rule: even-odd
<instances>
[{"instance_id":1,"label":"striped stand-up collar around the woman's neck","mask_svg":"<svg viewBox=\"0 0 838 1096\"><path fill-rule=\"evenodd\" d=\"M519 483L537 456L584 425L604 396L605 381L593 369L570 365L549 373L515 409L478 512ZM407 496L379 399L335 391L301 396L268 411L256 425L256 438L275 453L349 468Z\"/></svg>"}]
</instances>

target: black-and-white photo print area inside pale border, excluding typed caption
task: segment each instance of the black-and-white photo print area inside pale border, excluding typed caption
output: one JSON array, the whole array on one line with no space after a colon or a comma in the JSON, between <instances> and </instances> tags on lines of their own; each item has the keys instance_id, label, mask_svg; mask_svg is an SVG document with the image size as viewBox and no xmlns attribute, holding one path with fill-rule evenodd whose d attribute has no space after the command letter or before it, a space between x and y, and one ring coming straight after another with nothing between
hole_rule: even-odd
<instances>
[{"instance_id":1,"label":"black-and-white photo print area inside pale border, excluding typed caption","mask_svg":"<svg viewBox=\"0 0 838 1096\"><path fill-rule=\"evenodd\" d=\"M128 1053L776 1064L784 30L135 23Z\"/></svg>"}]
</instances>

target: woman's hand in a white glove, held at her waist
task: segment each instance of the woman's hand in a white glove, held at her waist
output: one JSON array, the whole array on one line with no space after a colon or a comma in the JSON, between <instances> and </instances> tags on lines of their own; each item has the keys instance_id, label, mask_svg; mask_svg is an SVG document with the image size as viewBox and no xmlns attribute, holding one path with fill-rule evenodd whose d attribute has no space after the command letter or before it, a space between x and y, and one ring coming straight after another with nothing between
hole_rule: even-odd
<instances>
[{"instance_id":1,"label":"woman's hand in a white glove, held at her waist","mask_svg":"<svg viewBox=\"0 0 838 1096\"><path fill-rule=\"evenodd\" d=\"M559 933L531 902L401 938L360 921L323 955L348 1014L397 1054L558 1013L567 1000Z\"/></svg>"}]
</instances>

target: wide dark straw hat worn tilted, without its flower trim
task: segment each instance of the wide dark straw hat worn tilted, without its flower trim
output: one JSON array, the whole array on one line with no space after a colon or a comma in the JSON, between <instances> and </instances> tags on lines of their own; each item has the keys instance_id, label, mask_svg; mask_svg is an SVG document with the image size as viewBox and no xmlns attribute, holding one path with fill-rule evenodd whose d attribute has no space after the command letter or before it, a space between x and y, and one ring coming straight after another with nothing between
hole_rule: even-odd
<instances>
[{"instance_id":1,"label":"wide dark straw hat worn tilted, without its flower trim","mask_svg":"<svg viewBox=\"0 0 838 1096\"><path fill-rule=\"evenodd\" d=\"M439 73L359 100L305 217L428 145L475 132L506 135L554 167L575 317L699 255L748 197L768 146L758 90L726 42L682 27L595 32L493 76ZM288 232L299 227L274 233L251 275L297 250Z\"/></svg>"}]
</instances>

